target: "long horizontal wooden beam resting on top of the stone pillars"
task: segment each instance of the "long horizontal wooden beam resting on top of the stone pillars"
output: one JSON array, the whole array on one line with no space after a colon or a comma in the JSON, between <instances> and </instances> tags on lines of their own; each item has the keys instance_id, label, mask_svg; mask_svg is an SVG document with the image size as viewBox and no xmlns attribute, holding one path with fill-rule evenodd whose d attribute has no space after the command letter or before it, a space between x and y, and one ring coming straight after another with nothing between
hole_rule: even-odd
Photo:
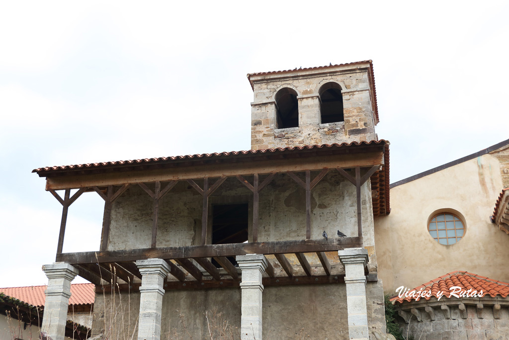
<instances>
[{"instance_id":1,"label":"long horizontal wooden beam resting on top of the stone pillars","mask_svg":"<svg viewBox=\"0 0 509 340\"><path fill-rule=\"evenodd\" d=\"M71 265L82 263L104 263L136 261L147 258L193 258L214 256L236 256L246 254L284 254L312 253L320 251L338 251L346 248L362 247L361 237L330 238L328 240L274 241L258 243L214 244L184 247L145 248L128 250L90 251L80 253L62 253L57 261ZM97 257L96 257L97 254Z\"/></svg>"}]
</instances>

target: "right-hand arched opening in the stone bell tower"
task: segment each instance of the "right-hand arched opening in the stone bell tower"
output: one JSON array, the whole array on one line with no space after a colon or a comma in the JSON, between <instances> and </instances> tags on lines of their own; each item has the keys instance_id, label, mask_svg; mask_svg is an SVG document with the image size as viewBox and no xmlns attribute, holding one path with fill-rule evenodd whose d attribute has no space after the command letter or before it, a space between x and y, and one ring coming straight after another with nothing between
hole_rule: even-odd
<instances>
[{"instance_id":1,"label":"right-hand arched opening in the stone bell tower","mask_svg":"<svg viewBox=\"0 0 509 340\"><path fill-rule=\"evenodd\" d=\"M336 83L326 83L320 88L319 94L322 124L345 121L341 87Z\"/></svg>"}]
</instances>

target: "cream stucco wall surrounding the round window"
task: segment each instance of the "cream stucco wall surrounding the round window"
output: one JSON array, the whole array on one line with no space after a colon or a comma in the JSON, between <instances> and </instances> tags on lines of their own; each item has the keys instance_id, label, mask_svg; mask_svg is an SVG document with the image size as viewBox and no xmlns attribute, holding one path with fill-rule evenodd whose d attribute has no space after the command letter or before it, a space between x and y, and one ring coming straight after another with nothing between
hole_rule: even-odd
<instances>
[{"instance_id":1,"label":"cream stucco wall surrounding the round window","mask_svg":"<svg viewBox=\"0 0 509 340\"><path fill-rule=\"evenodd\" d=\"M485 154L394 187L391 213L375 218L379 277L386 293L410 289L455 270L509 281L506 268L509 237L490 222L502 188L498 160ZM465 234L453 245L441 245L428 232L438 211L464 217Z\"/></svg>"}]
</instances>

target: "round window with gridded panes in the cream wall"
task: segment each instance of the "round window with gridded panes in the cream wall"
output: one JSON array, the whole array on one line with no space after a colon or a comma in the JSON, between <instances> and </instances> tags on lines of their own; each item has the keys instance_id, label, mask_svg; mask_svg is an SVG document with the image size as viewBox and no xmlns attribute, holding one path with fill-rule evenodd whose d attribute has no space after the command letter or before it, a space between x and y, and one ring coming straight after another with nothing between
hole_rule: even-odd
<instances>
[{"instance_id":1,"label":"round window with gridded panes in the cream wall","mask_svg":"<svg viewBox=\"0 0 509 340\"><path fill-rule=\"evenodd\" d=\"M436 214L428 225L430 235L440 244L455 244L465 233L461 219L451 213Z\"/></svg>"}]
</instances>

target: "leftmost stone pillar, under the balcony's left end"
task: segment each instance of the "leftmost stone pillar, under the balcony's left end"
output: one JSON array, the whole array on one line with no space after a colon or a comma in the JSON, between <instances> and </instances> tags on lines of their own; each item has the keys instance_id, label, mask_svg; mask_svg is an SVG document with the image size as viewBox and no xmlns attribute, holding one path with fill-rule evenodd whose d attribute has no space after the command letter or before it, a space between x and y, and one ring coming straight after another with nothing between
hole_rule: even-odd
<instances>
[{"instance_id":1,"label":"leftmost stone pillar, under the balcony's left end","mask_svg":"<svg viewBox=\"0 0 509 340\"><path fill-rule=\"evenodd\" d=\"M48 287L41 331L52 340L64 340L71 281L78 275L78 270L65 262L42 266L42 270L48 277Z\"/></svg>"}]
</instances>

